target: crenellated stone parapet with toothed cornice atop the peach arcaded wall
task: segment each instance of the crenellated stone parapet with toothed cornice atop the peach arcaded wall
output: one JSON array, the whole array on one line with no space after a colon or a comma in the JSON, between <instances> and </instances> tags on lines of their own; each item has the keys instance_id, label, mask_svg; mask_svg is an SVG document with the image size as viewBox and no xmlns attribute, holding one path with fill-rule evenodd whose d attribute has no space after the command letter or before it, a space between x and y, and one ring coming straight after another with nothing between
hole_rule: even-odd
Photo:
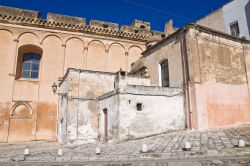
<instances>
[{"instance_id":1,"label":"crenellated stone parapet with toothed cornice atop the peach arcaded wall","mask_svg":"<svg viewBox=\"0 0 250 166\"><path fill-rule=\"evenodd\" d=\"M48 29L96 33L144 42L161 40L165 37L163 32L152 31L149 22L136 19L131 25L121 25L120 27L117 23L99 20L90 20L90 24L87 25L86 18L48 13L47 19L41 19L38 11L5 6L0 6L0 22Z\"/></svg>"}]
</instances>

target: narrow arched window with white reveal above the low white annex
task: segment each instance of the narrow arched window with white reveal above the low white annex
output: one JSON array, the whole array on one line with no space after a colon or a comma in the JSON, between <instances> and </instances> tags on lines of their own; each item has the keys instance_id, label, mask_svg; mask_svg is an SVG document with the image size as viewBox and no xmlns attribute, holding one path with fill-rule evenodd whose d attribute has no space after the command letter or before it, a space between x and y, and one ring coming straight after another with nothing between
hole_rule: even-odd
<instances>
[{"instance_id":1,"label":"narrow arched window with white reveal above the low white annex","mask_svg":"<svg viewBox=\"0 0 250 166\"><path fill-rule=\"evenodd\" d=\"M163 87L169 87L168 60L165 59L159 64L159 83Z\"/></svg>"}]
</instances>

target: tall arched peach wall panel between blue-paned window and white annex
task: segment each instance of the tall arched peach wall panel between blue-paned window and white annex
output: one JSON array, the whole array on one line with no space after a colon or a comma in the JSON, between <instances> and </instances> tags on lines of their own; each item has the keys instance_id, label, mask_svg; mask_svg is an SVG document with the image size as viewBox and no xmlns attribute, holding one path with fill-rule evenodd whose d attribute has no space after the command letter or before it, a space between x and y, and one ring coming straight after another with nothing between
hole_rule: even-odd
<instances>
[{"instance_id":1,"label":"tall arched peach wall panel between blue-paned window and white annex","mask_svg":"<svg viewBox=\"0 0 250 166\"><path fill-rule=\"evenodd\" d=\"M51 85L63 76L64 48L62 40L55 36L47 36L42 43L43 57L39 83L39 103L37 106L38 140L54 140L56 134L57 102Z\"/></svg>"}]
</instances>

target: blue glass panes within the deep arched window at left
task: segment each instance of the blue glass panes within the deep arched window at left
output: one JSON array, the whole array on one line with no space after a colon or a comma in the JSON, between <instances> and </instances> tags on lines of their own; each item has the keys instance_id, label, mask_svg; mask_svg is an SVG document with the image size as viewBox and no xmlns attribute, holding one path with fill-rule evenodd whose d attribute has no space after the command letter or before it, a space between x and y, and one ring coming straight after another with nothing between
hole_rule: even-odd
<instances>
[{"instance_id":1,"label":"blue glass panes within the deep arched window at left","mask_svg":"<svg viewBox=\"0 0 250 166\"><path fill-rule=\"evenodd\" d=\"M38 78L41 56L35 53L23 55L21 78Z\"/></svg>"}]
</instances>

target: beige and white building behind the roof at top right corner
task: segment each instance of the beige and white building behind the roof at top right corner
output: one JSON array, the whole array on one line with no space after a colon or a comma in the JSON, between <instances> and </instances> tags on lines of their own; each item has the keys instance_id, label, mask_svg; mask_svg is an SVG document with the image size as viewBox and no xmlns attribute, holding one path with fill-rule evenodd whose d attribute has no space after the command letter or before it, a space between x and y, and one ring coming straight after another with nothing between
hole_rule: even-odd
<instances>
[{"instance_id":1,"label":"beige and white building behind the roof at top right corner","mask_svg":"<svg viewBox=\"0 0 250 166\"><path fill-rule=\"evenodd\" d=\"M250 39L250 1L230 1L196 23L236 37Z\"/></svg>"}]
</instances>

